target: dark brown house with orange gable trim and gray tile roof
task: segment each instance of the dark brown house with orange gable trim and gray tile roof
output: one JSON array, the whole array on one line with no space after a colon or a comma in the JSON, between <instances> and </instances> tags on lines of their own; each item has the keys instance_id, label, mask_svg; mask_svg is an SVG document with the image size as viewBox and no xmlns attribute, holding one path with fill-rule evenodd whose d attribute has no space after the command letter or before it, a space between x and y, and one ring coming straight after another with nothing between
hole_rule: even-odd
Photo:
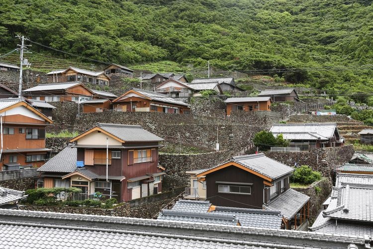
<instances>
[{"instance_id":1,"label":"dark brown house with orange gable trim and gray tile roof","mask_svg":"<svg viewBox=\"0 0 373 249\"><path fill-rule=\"evenodd\" d=\"M294 169L263 153L235 156L196 176L217 206L280 211L287 229L308 219L309 197L289 187Z\"/></svg>"}]
</instances>

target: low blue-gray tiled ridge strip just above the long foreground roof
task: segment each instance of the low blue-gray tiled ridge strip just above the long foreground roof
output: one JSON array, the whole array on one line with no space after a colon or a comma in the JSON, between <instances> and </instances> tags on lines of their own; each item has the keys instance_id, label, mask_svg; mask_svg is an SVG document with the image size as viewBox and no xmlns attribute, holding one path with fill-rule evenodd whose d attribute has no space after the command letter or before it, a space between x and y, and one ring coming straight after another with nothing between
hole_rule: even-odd
<instances>
[{"instance_id":1,"label":"low blue-gray tiled ridge strip just above the long foreground roof","mask_svg":"<svg viewBox=\"0 0 373 249\"><path fill-rule=\"evenodd\" d=\"M192 210L191 210L192 211ZM224 224L233 225L238 224L235 215L218 214L218 213L201 213L201 212L187 212L177 210L163 210L157 220L160 221L186 221L207 224Z\"/></svg>"}]
</instances>

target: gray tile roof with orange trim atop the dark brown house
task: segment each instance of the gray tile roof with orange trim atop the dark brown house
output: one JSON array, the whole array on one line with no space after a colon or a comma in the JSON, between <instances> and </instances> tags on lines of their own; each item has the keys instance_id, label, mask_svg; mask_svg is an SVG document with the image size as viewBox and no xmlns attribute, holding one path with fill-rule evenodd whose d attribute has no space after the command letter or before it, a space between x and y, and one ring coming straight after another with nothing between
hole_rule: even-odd
<instances>
[{"instance_id":1,"label":"gray tile roof with orange trim atop the dark brown house","mask_svg":"<svg viewBox=\"0 0 373 249\"><path fill-rule=\"evenodd\" d=\"M272 158L269 158L265 156L263 153L258 153L258 154L252 154L252 155L231 157L230 160L227 160L215 167L206 169L204 172L220 167L221 165L224 165L230 162L238 163L250 170L258 172L273 180L294 171L292 167L289 167ZM203 172L201 172L200 174L203 174Z\"/></svg>"}]
</instances>

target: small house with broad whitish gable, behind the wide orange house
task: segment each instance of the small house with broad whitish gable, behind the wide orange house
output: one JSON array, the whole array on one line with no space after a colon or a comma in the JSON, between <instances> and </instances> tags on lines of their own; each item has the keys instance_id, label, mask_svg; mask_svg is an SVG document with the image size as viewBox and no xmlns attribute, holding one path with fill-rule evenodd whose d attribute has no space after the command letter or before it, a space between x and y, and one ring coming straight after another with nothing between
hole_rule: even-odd
<instances>
[{"instance_id":1,"label":"small house with broad whitish gable, behind the wide orange house","mask_svg":"<svg viewBox=\"0 0 373 249\"><path fill-rule=\"evenodd\" d=\"M168 94L172 98L188 98L192 96L193 88L187 83L176 79L168 79L155 88L157 93Z\"/></svg>"}]
</instances>

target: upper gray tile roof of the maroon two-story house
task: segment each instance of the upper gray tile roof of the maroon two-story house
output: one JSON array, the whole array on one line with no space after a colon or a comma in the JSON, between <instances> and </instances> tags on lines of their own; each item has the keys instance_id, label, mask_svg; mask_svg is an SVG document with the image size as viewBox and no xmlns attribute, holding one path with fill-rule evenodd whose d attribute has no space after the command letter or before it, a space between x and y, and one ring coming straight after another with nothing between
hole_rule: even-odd
<instances>
[{"instance_id":1,"label":"upper gray tile roof of the maroon two-story house","mask_svg":"<svg viewBox=\"0 0 373 249\"><path fill-rule=\"evenodd\" d=\"M126 142L159 142L164 139L143 129L140 125L97 123L97 127Z\"/></svg>"}]
</instances>

